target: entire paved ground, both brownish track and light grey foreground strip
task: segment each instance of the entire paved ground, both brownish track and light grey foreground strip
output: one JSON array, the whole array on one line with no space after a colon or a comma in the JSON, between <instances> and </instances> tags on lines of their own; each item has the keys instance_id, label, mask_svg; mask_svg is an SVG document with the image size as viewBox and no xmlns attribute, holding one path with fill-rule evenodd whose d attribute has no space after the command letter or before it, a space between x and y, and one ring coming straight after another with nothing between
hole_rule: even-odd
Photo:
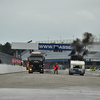
<instances>
[{"instance_id":1,"label":"entire paved ground, both brownish track and light grey foreground strip","mask_svg":"<svg viewBox=\"0 0 100 100\"><path fill-rule=\"evenodd\" d=\"M8 84L8 85L7 85ZM0 100L100 100L100 76L28 72L0 75Z\"/></svg>"}]
</instances>

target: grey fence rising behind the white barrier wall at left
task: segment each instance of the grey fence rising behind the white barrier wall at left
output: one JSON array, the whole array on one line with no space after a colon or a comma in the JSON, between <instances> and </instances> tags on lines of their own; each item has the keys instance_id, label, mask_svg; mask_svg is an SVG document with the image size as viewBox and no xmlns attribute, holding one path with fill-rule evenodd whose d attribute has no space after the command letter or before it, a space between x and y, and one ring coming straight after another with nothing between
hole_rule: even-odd
<instances>
[{"instance_id":1,"label":"grey fence rising behind the white barrier wall at left","mask_svg":"<svg viewBox=\"0 0 100 100\"><path fill-rule=\"evenodd\" d=\"M12 64L12 58L16 58L16 57L0 52L0 59L2 61L2 64Z\"/></svg>"}]
</instances>

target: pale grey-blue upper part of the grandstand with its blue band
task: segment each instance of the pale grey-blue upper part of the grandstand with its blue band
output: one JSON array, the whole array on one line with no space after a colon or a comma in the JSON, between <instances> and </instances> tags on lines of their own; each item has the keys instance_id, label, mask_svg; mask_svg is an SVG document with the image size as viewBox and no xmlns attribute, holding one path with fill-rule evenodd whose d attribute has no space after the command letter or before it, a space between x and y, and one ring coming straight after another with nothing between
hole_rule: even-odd
<instances>
[{"instance_id":1,"label":"pale grey-blue upper part of the grandstand with its blue band","mask_svg":"<svg viewBox=\"0 0 100 100\"><path fill-rule=\"evenodd\" d=\"M93 45L100 45L100 42L95 42ZM62 51L62 52L54 52L50 50L35 50L42 52L42 54L45 57L45 61L68 61L70 59L69 54L71 51ZM30 56L29 50L25 51L22 54L22 60L27 60L27 58ZM89 52L88 55L84 56L84 59L100 59L100 52Z\"/></svg>"}]
</instances>

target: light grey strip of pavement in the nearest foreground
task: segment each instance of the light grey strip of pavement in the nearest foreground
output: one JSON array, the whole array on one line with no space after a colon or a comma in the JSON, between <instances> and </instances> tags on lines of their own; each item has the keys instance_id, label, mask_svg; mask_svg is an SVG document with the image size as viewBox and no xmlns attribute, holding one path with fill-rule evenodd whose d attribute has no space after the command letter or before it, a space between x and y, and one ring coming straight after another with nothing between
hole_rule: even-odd
<instances>
[{"instance_id":1,"label":"light grey strip of pavement in the nearest foreground","mask_svg":"<svg viewBox=\"0 0 100 100\"><path fill-rule=\"evenodd\" d=\"M100 100L100 88L0 89L0 100Z\"/></svg>"}]
</instances>

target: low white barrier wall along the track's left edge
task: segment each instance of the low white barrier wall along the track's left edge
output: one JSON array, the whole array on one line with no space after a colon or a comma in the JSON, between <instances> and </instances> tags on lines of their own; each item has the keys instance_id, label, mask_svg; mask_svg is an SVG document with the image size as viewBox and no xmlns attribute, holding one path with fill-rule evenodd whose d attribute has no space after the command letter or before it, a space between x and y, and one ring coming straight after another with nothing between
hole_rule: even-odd
<instances>
[{"instance_id":1,"label":"low white barrier wall along the track's left edge","mask_svg":"<svg viewBox=\"0 0 100 100\"><path fill-rule=\"evenodd\" d=\"M26 67L0 64L0 74L26 71Z\"/></svg>"}]
</instances>

